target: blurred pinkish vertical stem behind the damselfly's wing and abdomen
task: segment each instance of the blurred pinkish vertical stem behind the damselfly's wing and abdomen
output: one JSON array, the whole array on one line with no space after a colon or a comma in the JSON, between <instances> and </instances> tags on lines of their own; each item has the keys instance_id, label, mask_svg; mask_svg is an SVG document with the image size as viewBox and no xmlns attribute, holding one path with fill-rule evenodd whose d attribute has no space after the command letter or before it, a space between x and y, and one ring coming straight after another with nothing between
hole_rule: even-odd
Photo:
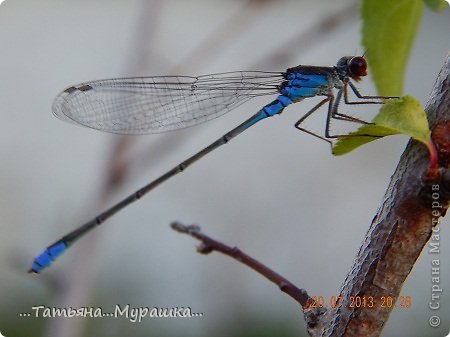
<instances>
[{"instance_id":1,"label":"blurred pinkish vertical stem behind the damselfly's wing and abdomen","mask_svg":"<svg viewBox=\"0 0 450 337\"><path fill-rule=\"evenodd\" d=\"M149 33L155 32L155 23L160 15L162 7L161 0L141 2L141 11L138 17L137 32L132 40L133 46L130 50L130 58L133 58L128 64L132 67L143 67L145 62L149 62L150 49L149 47ZM150 15L150 17L149 17ZM99 193L94 197L94 202L89 201L89 204L94 205L95 208L103 208L111 195L111 192L119 188L126 182L127 172L130 165L125 160L126 154L132 145L131 137L117 137L112 146L112 151L108 160L105 163L104 180L100 187ZM90 291L94 283L93 271L95 259L97 255L96 249L99 244L101 232L95 231L91 233L85 240L80 242L80 248L76 250L75 259L82 264L82 268L71 268L68 273L64 275L62 280L56 282L57 287L55 293L54 306L55 307L86 307L87 303L92 299ZM80 317L72 319L52 319L46 326L45 335L48 337L79 337L83 335L83 330L86 326L86 320Z\"/></svg>"}]
</instances>

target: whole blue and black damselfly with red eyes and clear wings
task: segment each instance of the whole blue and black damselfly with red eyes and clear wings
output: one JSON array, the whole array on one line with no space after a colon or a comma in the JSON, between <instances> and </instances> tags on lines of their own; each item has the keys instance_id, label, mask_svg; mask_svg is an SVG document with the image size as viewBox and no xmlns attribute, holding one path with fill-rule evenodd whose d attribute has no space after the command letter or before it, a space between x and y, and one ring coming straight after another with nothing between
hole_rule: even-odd
<instances>
[{"instance_id":1,"label":"whole blue and black damselfly with red eyes and clear wings","mask_svg":"<svg viewBox=\"0 0 450 337\"><path fill-rule=\"evenodd\" d=\"M330 134L331 119L364 123L340 113L338 107L342 100L345 104L374 104L390 98L361 95L352 80L358 81L366 75L367 63L363 56L345 56L334 67L299 65L285 72L237 71L197 77L119 78L67 88L54 101L52 109L56 116L78 125L119 134L148 134L185 128L216 118L251 98L278 96L204 149L47 247L34 259L30 272L39 273L88 231L260 120L281 114L290 104L308 97L323 96L295 123L295 127L328 142L341 136ZM348 88L359 100L349 100ZM325 104L328 104L328 114L324 135L301 127L306 118Z\"/></svg>"}]
</instances>

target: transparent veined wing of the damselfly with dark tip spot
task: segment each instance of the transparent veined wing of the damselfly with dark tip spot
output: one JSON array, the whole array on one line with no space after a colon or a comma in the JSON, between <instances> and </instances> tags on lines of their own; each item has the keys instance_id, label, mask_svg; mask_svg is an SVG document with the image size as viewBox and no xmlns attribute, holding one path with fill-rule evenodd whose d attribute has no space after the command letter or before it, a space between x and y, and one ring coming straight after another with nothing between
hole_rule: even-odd
<instances>
[{"instance_id":1,"label":"transparent veined wing of the damselfly with dark tip spot","mask_svg":"<svg viewBox=\"0 0 450 337\"><path fill-rule=\"evenodd\" d=\"M258 71L99 80L67 88L52 110L63 120L102 131L159 133L211 120L252 97L276 94L282 80L282 73Z\"/></svg>"}]
</instances>

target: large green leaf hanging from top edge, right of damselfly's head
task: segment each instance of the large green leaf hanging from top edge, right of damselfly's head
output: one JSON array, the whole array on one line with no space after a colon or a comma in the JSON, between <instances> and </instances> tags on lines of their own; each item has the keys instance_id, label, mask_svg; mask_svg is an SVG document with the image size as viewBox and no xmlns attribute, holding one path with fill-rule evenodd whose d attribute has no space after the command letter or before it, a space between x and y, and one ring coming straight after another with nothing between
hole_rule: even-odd
<instances>
[{"instance_id":1,"label":"large green leaf hanging from top edge, right of damselfly's head","mask_svg":"<svg viewBox=\"0 0 450 337\"><path fill-rule=\"evenodd\" d=\"M382 96L402 93L406 62L422 10L421 0L362 1L362 43Z\"/></svg>"}]
</instances>

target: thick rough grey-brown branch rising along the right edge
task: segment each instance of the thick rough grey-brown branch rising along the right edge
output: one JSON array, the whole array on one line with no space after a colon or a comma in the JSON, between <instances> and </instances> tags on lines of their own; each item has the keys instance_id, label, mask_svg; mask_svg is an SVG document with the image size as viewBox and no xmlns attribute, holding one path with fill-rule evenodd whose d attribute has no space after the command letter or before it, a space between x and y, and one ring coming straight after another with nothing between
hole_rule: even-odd
<instances>
[{"instance_id":1,"label":"thick rough grey-brown branch rising along the right edge","mask_svg":"<svg viewBox=\"0 0 450 337\"><path fill-rule=\"evenodd\" d=\"M360 247L340 291L342 303L329 309L311 336L379 336L393 309L382 299L396 302L403 282L421 251L437 230L448 207L450 159L450 54L438 75L425 108L439 153L443 174L438 181L424 182L428 168L425 147L410 141L395 170L380 209ZM373 297L372 308L351 307L351 297Z\"/></svg>"}]
</instances>

